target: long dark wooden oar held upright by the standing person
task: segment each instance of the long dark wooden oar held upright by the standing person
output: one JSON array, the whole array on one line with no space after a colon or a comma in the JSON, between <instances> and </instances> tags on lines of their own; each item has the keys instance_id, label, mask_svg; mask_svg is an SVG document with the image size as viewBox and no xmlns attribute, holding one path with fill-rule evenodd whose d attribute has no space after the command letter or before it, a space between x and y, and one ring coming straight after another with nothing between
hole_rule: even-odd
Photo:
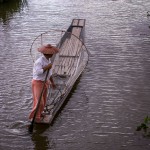
<instances>
[{"instance_id":1,"label":"long dark wooden oar held upright by the standing person","mask_svg":"<svg viewBox=\"0 0 150 150\"><path fill-rule=\"evenodd\" d=\"M38 100L38 103L37 103L37 106L36 106L36 109L35 109L35 113L34 113L31 125L28 128L28 131L30 133L33 132L33 127L34 127L34 122L35 122L36 114L37 114L39 106L40 106L40 102L41 102L41 98L42 98L42 95L43 95L43 92L44 92L44 86L45 86L45 83L47 81L48 73L49 73L49 69L47 70L47 73L46 73L46 77L45 77L45 80L44 80L44 83L43 83L43 87L42 87L42 90L41 90L41 94L40 94L40 97L39 97L39 100Z\"/></svg>"}]
</instances>

